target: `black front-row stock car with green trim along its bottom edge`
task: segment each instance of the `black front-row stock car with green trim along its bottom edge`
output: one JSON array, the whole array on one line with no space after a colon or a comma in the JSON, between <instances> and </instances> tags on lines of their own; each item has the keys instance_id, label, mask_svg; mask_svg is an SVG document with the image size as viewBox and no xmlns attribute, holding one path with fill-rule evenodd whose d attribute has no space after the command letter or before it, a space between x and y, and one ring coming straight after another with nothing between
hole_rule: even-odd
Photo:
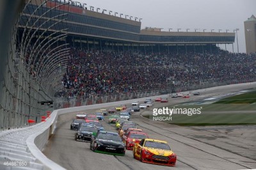
<instances>
[{"instance_id":1,"label":"black front-row stock car with green trim along its bottom edge","mask_svg":"<svg viewBox=\"0 0 256 170\"><path fill-rule=\"evenodd\" d=\"M125 144L115 132L99 131L92 137L90 149L99 153L125 155Z\"/></svg>"}]
</instances>

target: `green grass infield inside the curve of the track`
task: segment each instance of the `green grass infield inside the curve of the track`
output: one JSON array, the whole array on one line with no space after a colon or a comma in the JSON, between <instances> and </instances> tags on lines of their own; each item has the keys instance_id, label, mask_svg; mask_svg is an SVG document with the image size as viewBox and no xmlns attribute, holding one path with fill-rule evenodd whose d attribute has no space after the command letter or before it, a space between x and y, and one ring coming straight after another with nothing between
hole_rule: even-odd
<instances>
[{"instance_id":1,"label":"green grass infield inside the curve of the track","mask_svg":"<svg viewBox=\"0 0 256 170\"><path fill-rule=\"evenodd\" d=\"M212 104L182 104L175 108L182 108L183 111L200 108L201 114L172 114L172 120L164 122L183 126L256 125L256 91L223 98ZM153 119L153 116L146 117Z\"/></svg>"}]
</instances>

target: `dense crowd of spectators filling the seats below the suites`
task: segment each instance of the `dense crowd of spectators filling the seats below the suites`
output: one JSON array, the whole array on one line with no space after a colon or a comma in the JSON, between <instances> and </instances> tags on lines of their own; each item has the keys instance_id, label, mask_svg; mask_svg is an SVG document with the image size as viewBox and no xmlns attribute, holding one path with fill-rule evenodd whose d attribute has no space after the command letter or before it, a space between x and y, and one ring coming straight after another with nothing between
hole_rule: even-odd
<instances>
[{"instance_id":1,"label":"dense crowd of spectators filling the seats below the suites","mask_svg":"<svg viewBox=\"0 0 256 170\"><path fill-rule=\"evenodd\" d=\"M116 52L72 49L63 91L58 96L81 97L140 90L164 89L170 85L201 84L256 78L256 54L214 52Z\"/></svg>"}]
</instances>

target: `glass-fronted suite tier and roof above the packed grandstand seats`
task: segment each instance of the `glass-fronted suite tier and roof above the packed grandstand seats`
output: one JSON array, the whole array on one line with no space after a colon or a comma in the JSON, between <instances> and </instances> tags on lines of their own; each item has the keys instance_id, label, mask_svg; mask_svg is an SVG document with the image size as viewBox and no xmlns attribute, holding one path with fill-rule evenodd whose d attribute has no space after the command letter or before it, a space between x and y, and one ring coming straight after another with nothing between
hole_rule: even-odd
<instances>
[{"instance_id":1,"label":"glass-fronted suite tier and roof above the packed grandstand seats","mask_svg":"<svg viewBox=\"0 0 256 170\"><path fill-rule=\"evenodd\" d=\"M70 3L72 1L47 1L42 5L42 10L35 13L34 19L39 17L49 8L56 8L54 12L48 13L42 22L56 15L56 13L67 13L65 24L59 24L58 28L67 33L65 41L73 47L83 49L111 49L111 50L140 50L160 52L163 50L192 49L204 52L207 48L216 44L234 43L235 33L212 33L212 32L167 32L155 29L141 29L140 20L125 19L111 13L96 12L93 8L86 8L86 4ZM42 4L40 0L33 0L28 4L22 15L22 20L28 20L31 11ZM51 22L51 23L50 23ZM55 20L58 22L58 19ZM52 20L48 24L52 23ZM20 22L20 29L25 23ZM47 29L45 26L39 29ZM35 29L38 25L35 25ZM49 29L48 31L52 31ZM198 48L199 47L199 48Z\"/></svg>"}]
</instances>

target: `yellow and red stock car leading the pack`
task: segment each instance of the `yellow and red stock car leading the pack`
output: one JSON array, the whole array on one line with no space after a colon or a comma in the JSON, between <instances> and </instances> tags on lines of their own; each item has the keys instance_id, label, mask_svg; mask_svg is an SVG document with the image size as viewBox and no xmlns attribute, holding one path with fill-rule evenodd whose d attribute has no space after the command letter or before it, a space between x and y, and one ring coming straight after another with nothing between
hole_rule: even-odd
<instances>
[{"instance_id":1,"label":"yellow and red stock car leading the pack","mask_svg":"<svg viewBox=\"0 0 256 170\"><path fill-rule=\"evenodd\" d=\"M168 143L156 139L141 139L140 143L135 143L133 157L141 162L163 166L175 166L177 160Z\"/></svg>"}]
</instances>

